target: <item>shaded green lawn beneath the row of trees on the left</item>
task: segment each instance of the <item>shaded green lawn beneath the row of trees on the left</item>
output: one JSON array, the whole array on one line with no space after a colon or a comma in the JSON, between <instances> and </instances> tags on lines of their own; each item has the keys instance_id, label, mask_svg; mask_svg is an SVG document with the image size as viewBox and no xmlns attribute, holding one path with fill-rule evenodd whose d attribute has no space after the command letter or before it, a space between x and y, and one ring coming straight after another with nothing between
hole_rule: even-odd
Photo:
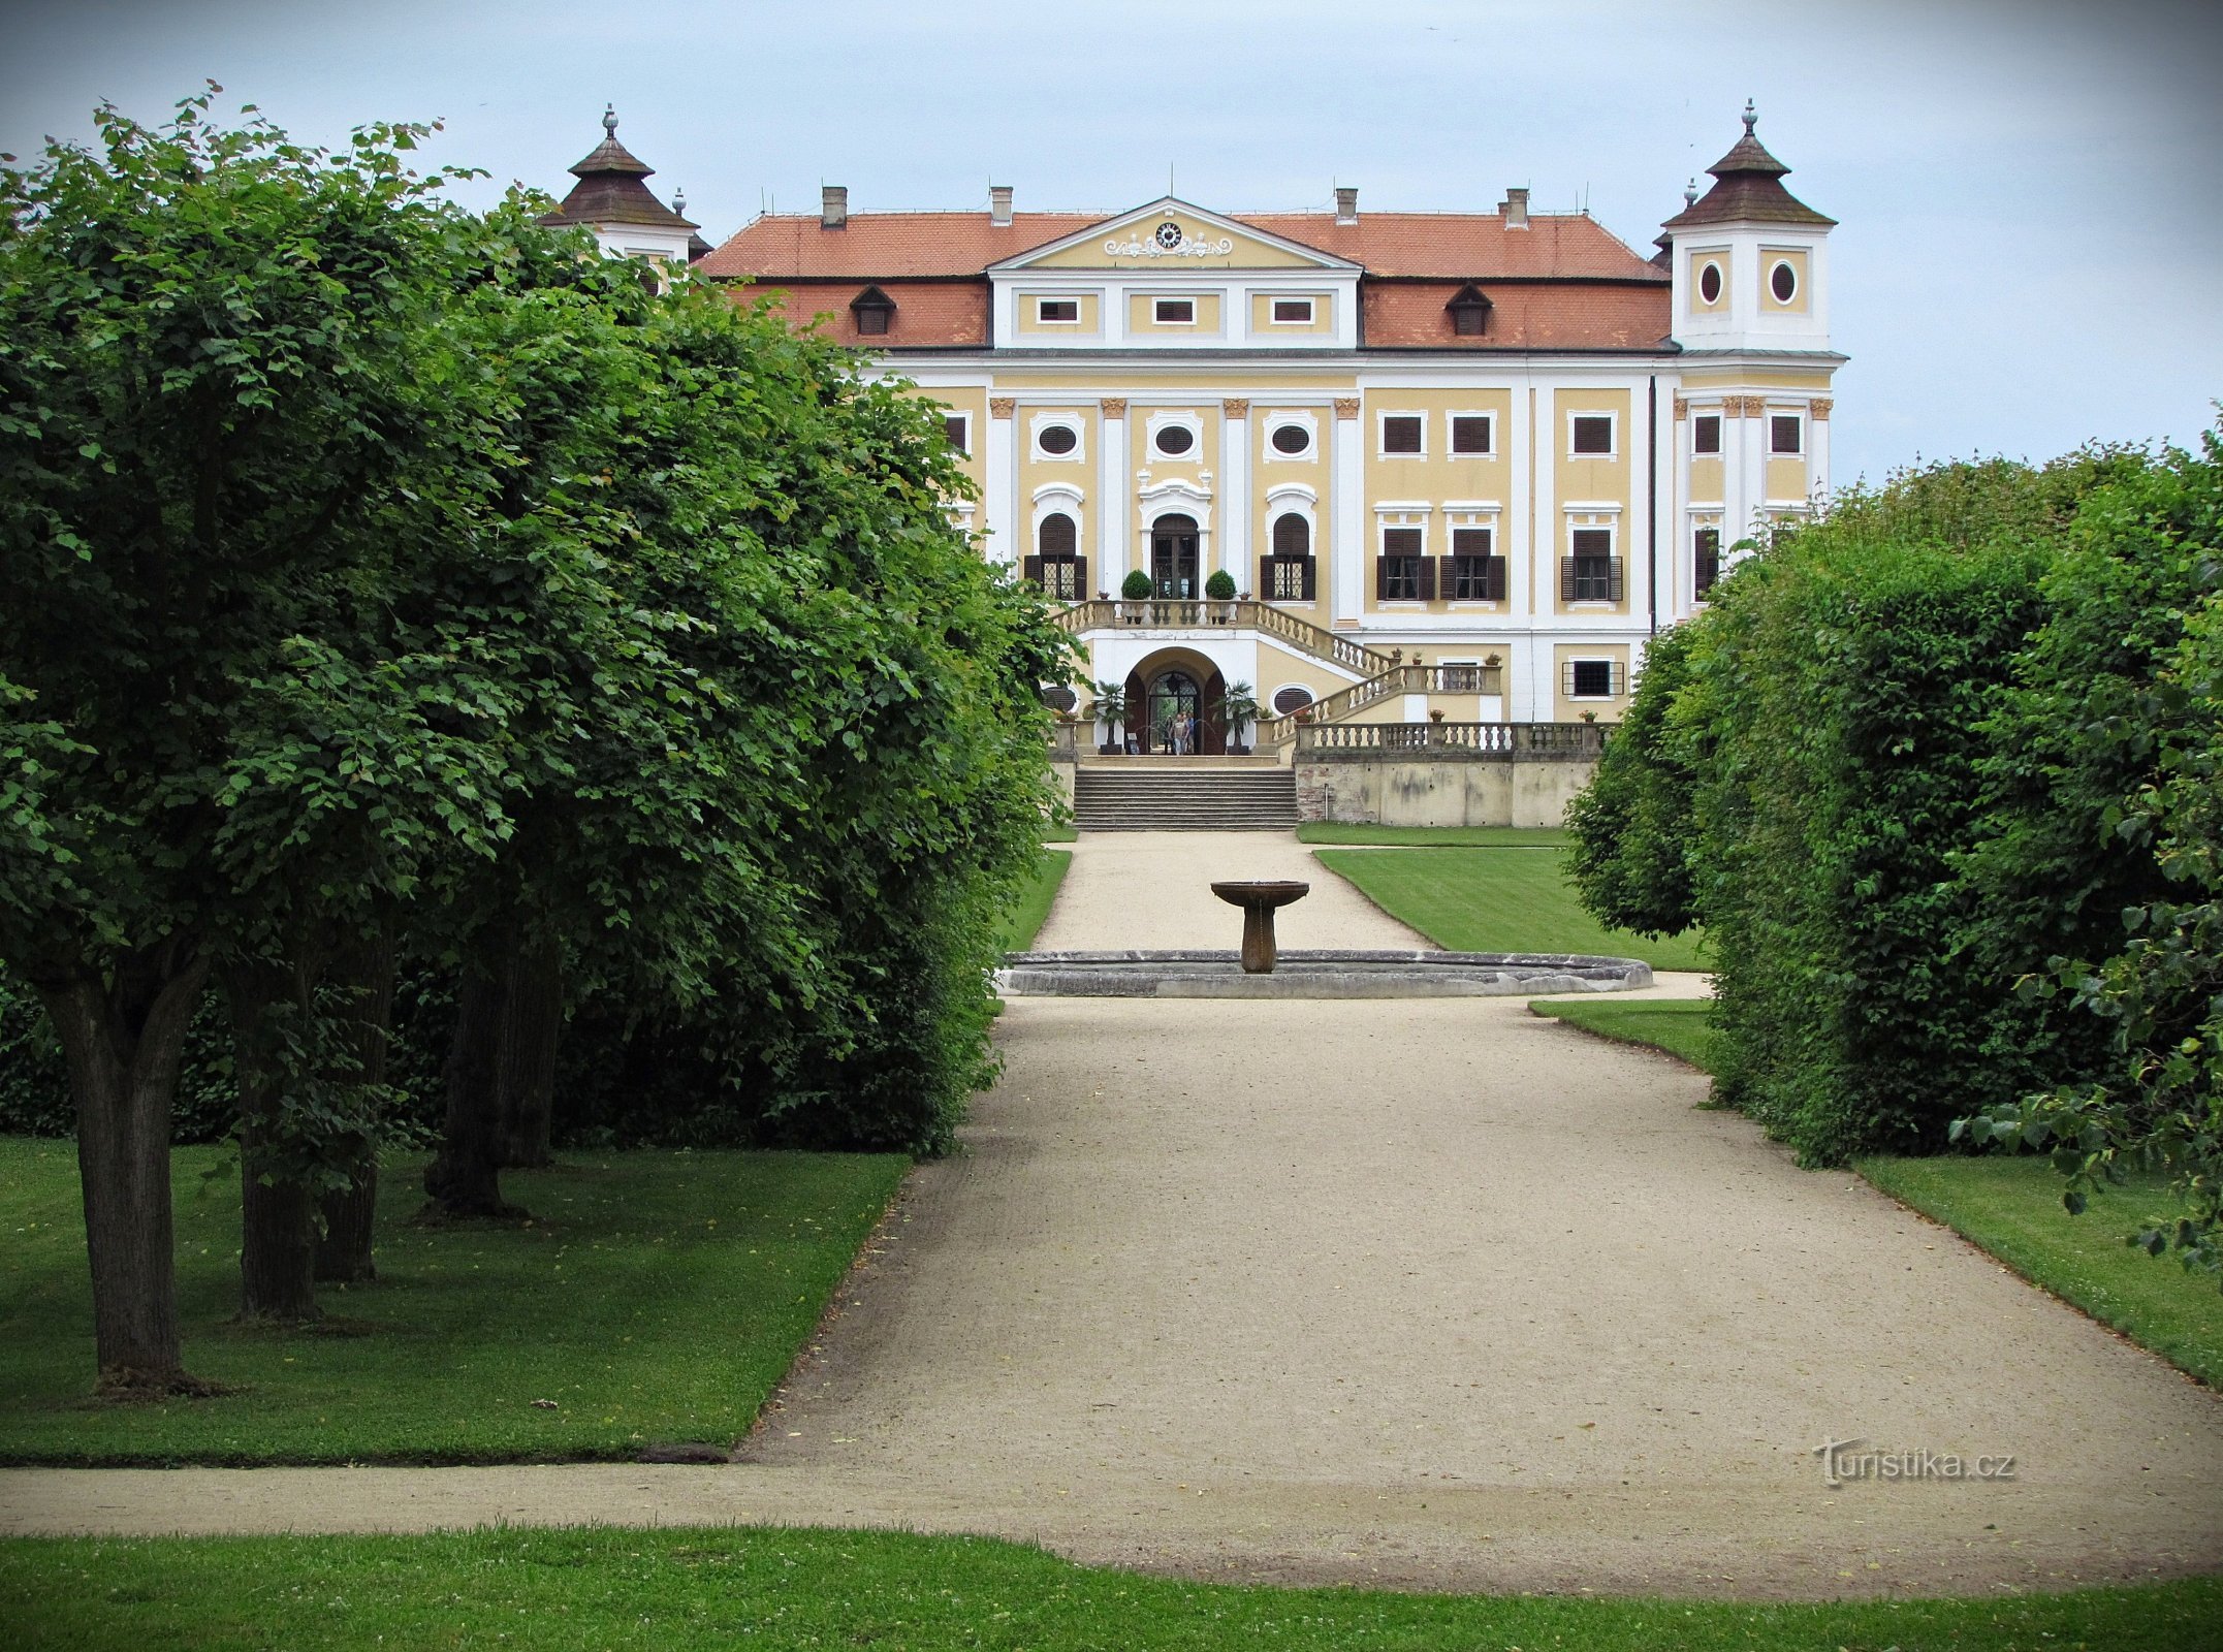
<instances>
[{"instance_id":1,"label":"shaded green lawn beneath the row of trees on the left","mask_svg":"<svg viewBox=\"0 0 2223 1652\"><path fill-rule=\"evenodd\" d=\"M382 1185L373 1285L331 1325L231 1325L238 1174L180 1147L187 1367L240 1392L100 1405L76 1154L0 1138L0 1461L491 1463L734 1441L880 1218L894 1154L567 1154L502 1187L529 1227L416 1227L420 1163ZM536 1399L556 1401L554 1410Z\"/></svg>"}]
</instances>

